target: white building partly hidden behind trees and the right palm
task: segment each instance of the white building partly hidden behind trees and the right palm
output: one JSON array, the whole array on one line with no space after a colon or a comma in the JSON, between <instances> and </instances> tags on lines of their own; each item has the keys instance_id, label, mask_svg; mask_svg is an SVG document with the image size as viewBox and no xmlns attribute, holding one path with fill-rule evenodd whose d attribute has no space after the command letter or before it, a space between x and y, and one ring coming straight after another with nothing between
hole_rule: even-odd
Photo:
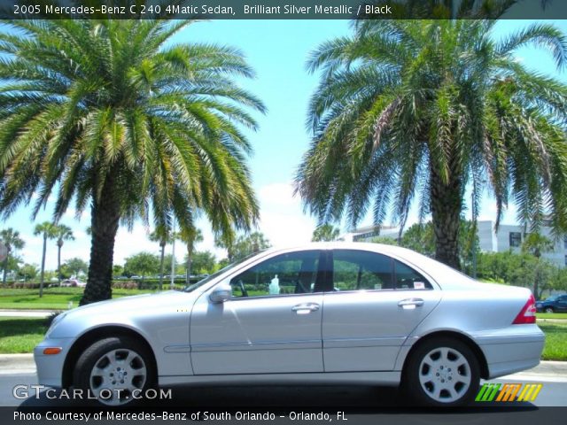
<instances>
[{"instance_id":1,"label":"white building partly hidden behind trees and the right palm","mask_svg":"<svg viewBox=\"0 0 567 425\"><path fill-rule=\"evenodd\" d=\"M394 239L398 238L400 228L391 226L367 226L357 228L353 232L346 233L341 237L347 242L370 242L377 236L388 236ZM555 240L552 236L551 228L542 226L540 234L551 240ZM504 252L511 250L519 253L522 242L524 241L524 226L517 224L501 224L498 232L494 232L494 222L489 220L478 221L478 243L480 250L485 252ZM542 259L548 259L559 267L567 266L567 235L555 240L555 248L551 252L543 252Z\"/></svg>"}]
</instances>

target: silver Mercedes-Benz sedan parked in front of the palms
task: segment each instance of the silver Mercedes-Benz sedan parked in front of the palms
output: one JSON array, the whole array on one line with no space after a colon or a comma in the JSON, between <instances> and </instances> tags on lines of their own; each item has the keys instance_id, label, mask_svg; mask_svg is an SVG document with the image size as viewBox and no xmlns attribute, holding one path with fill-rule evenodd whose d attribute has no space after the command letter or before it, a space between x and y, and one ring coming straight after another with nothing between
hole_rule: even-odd
<instances>
[{"instance_id":1,"label":"silver Mercedes-Benz sedan parked in front of the palms","mask_svg":"<svg viewBox=\"0 0 567 425\"><path fill-rule=\"evenodd\" d=\"M261 252L184 292L62 313L35 362L40 383L111 406L205 383L401 384L421 405L458 406L480 378L538 365L543 343L530 290L400 247L313 243Z\"/></svg>"}]
</instances>

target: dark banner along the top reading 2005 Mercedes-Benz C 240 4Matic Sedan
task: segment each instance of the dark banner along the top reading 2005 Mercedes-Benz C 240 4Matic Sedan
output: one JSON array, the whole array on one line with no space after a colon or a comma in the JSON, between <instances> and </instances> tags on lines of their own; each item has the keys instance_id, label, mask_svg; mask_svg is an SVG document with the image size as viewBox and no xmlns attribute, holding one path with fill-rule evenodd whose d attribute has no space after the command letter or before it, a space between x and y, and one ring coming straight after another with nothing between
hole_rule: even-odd
<instances>
[{"instance_id":1,"label":"dark banner along the top reading 2005 Mercedes-Benz C 240 4Matic Sedan","mask_svg":"<svg viewBox=\"0 0 567 425\"><path fill-rule=\"evenodd\" d=\"M563 0L0 0L0 19L567 19Z\"/></svg>"}]
</instances>

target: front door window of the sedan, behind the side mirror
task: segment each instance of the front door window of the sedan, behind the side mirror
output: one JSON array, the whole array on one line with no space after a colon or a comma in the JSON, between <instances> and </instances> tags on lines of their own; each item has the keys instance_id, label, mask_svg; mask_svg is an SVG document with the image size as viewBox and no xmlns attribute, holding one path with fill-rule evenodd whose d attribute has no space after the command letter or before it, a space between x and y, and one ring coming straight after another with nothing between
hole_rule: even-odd
<instances>
[{"instance_id":1,"label":"front door window of the sedan, behind the side mirror","mask_svg":"<svg viewBox=\"0 0 567 425\"><path fill-rule=\"evenodd\" d=\"M304 294L315 291L320 251L278 255L230 280L234 298Z\"/></svg>"}]
</instances>

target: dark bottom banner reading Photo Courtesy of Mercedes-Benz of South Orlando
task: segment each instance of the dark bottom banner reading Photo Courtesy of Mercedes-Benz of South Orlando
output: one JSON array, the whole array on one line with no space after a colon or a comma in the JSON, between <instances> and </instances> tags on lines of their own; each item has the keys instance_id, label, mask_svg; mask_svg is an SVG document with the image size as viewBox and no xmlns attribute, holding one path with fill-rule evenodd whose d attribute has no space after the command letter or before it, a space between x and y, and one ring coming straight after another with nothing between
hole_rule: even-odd
<instances>
[{"instance_id":1,"label":"dark bottom banner reading Photo Courtesy of Mercedes-Benz of South Orlando","mask_svg":"<svg viewBox=\"0 0 567 425\"><path fill-rule=\"evenodd\" d=\"M220 400L219 400L220 401ZM96 409L96 408L11 408L0 407L3 424L97 424L97 423L335 423L343 425L412 425L457 424L470 425L532 425L533 423L563 423L565 407L488 407L462 409L348 409L337 413L329 409L282 410L270 407L242 407L222 409L202 407L198 409L150 408L150 409Z\"/></svg>"}]
</instances>

